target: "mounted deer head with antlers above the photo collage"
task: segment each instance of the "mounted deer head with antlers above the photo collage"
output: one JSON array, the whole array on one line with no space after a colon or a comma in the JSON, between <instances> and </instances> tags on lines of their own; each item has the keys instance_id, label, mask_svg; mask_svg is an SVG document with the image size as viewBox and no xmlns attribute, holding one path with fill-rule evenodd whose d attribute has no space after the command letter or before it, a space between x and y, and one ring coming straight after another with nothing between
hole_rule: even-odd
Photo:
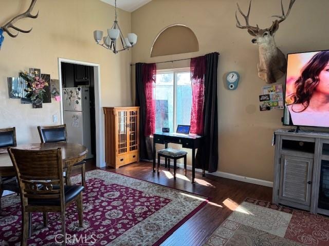
<instances>
[{"instance_id":1,"label":"mounted deer head with antlers above the photo collage","mask_svg":"<svg viewBox=\"0 0 329 246\"><path fill-rule=\"evenodd\" d=\"M239 10L246 22L245 26L241 25L235 11L236 27L247 29L248 33L253 36L251 43L259 45L260 63L258 64L258 76L265 80L267 84L276 83L276 81L286 73L286 57L282 51L277 48L274 36L279 29L279 24L288 17L295 1L296 0L290 0L288 11L285 13L281 0L282 15L272 15L272 17L278 19L273 22L271 27L265 29L260 29L258 25L249 25L251 0L247 14L244 14L239 4L236 4L237 10Z\"/></svg>"}]
</instances>

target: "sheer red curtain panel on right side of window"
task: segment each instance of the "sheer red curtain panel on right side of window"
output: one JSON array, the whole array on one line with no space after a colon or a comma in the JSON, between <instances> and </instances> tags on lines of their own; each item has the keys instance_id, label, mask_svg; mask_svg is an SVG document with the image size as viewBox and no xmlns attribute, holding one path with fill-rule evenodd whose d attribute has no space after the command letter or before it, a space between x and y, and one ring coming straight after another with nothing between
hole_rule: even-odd
<instances>
[{"instance_id":1,"label":"sheer red curtain panel on right side of window","mask_svg":"<svg viewBox=\"0 0 329 246\"><path fill-rule=\"evenodd\" d=\"M206 56L191 59L192 110L191 133L203 135Z\"/></svg>"}]
</instances>

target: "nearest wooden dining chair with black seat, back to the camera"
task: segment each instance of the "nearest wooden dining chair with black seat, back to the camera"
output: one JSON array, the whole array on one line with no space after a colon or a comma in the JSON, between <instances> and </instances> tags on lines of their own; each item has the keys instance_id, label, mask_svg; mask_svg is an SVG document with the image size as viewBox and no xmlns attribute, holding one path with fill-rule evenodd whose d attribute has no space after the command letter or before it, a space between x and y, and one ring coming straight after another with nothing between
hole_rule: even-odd
<instances>
[{"instance_id":1,"label":"nearest wooden dining chair with black seat, back to the camera","mask_svg":"<svg viewBox=\"0 0 329 246\"><path fill-rule=\"evenodd\" d=\"M21 190L22 241L27 245L31 235L31 213L43 212L47 226L47 212L61 213L63 245L65 245L65 210L72 202L78 207L79 227L82 227L83 186L64 186L61 148L54 150L19 150L8 148Z\"/></svg>"}]
</instances>

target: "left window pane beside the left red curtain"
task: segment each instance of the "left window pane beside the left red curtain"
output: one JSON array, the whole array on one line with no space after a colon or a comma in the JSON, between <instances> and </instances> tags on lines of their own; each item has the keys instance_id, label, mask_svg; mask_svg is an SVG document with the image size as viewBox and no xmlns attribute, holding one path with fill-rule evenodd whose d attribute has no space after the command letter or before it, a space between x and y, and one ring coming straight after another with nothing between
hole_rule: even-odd
<instances>
[{"instance_id":1,"label":"left window pane beside the left red curtain","mask_svg":"<svg viewBox=\"0 0 329 246\"><path fill-rule=\"evenodd\" d=\"M155 86L155 131L161 132L162 127L173 131L174 116L174 73L156 75Z\"/></svg>"}]
</instances>

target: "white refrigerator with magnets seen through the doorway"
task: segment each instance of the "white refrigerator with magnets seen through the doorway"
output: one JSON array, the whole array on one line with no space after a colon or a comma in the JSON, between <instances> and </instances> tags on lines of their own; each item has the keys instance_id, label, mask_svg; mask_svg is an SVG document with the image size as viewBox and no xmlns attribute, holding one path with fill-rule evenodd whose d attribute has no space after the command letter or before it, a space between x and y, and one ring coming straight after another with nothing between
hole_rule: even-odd
<instances>
[{"instance_id":1,"label":"white refrigerator with magnets seen through the doorway","mask_svg":"<svg viewBox=\"0 0 329 246\"><path fill-rule=\"evenodd\" d=\"M81 144L88 149L87 159L93 158L90 133L90 98L88 87L63 88L64 124L67 142Z\"/></svg>"}]
</instances>

